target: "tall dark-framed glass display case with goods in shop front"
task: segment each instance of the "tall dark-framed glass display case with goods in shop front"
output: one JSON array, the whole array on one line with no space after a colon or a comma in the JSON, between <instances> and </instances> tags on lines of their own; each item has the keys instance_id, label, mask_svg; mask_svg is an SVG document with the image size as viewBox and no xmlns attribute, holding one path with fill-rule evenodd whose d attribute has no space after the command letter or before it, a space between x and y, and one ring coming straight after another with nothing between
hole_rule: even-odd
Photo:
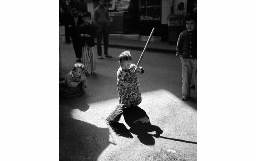
<instances>
[{"instance_id":1,"label":"tall dark-framed glass display case with goods in shop front","mask_svg":"<svg viewBox=\"0 0 256 161\"><path fill-rule=\"evenodd\" d=\"M161 36L161 0L140 0L139 34L149 36L155 28L153 36Z\"/></svg>"}]
</instances>

